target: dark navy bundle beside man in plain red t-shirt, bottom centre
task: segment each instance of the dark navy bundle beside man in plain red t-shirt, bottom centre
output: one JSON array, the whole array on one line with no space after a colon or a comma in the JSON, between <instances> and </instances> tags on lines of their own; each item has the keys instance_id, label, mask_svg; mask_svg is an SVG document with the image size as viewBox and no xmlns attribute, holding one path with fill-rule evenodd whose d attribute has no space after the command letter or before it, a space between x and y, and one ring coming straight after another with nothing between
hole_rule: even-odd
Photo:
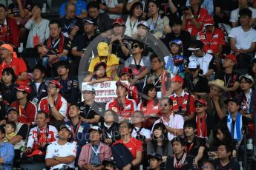
<instances>
[{"instance_id":1,"label":"dark navy bundle beside man in plain red t-shirt, bottom centre","mask_svg":"<svg viewBox=\"0 0 256 170\"><path fill-rule=\"evenodd\" d=\"M134 160L131 152L122 143L116 143L111 147L111 151L118 169L122 169Z\"/></svg>"}]
</instances>

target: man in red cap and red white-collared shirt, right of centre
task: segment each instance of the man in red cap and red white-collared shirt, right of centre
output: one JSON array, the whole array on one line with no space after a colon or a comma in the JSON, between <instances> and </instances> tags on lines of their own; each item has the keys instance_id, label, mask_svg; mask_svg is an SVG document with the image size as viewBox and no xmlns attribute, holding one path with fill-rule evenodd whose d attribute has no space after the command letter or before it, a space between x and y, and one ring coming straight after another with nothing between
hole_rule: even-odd
<instances>
[{"instance_id":1,"label":"man in red cap and red white-collared shirt, right of centre","mask_svg":"<svg viewBox=\"0 0 256 170\"><path fill-rule=\"evenodd\" d=\"M182 115L184 119L194 118L194 95L183 89L184 80L180 75L171 78L171 88L174 93L170 96L173 101L172 110L175 114Z\"/></svg>"}]
</instances>

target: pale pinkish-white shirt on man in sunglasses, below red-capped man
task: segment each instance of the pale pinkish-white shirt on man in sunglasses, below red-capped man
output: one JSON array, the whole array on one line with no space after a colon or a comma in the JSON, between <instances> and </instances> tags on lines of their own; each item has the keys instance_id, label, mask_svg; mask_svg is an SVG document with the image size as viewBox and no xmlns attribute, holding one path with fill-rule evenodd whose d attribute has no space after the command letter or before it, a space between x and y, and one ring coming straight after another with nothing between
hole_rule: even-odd
<instances>
[{"instance_id":1,"label":"pale pinkish-white shirt on man in sunglasses, below red-capped man","mask_svg":"<svg viewBox=\"0 0 256 170\"><path fill-rule=\"evenodd\" d=\"M160 120L163 120L163 123L165 124L165 126L169 126L173 129L183 129L184 119L181 115L171 114L169 122L166 122L162 116L160 119L158 119L157 121L154 122L154 125L157 123L160 123ZM151 133L153 133L154 125L151 129ZM171 141L174 137L177 137L177 136L168 132L168 140Z\"/></svg>"}]
</instances>

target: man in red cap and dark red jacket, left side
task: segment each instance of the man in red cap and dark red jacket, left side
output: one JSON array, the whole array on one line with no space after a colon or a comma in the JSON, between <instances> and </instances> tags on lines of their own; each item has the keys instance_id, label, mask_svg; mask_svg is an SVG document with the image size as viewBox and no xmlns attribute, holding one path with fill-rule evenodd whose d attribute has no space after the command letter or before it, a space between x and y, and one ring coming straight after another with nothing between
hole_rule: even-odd
<instances>
[{"instance_id":1,"label":"man in red cap and dark red jacket, left side","mask_svg":"<svg viewBox=\"0 0 256 170\"><path fill-rule=\"evenodd\" d=\"M17 101L11 103L10 106L19 109L19 122L32 126L35 124L37 109L36 105L29 101L30 86L19 86L16 89Z\"/></svg>"}]
</instances>

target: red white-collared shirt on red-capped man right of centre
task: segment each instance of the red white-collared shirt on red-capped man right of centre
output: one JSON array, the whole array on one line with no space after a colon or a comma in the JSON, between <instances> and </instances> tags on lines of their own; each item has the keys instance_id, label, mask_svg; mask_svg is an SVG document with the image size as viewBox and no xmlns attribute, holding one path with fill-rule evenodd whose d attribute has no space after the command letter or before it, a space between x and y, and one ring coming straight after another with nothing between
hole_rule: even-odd
<instances>
[{"instance_id":1,"label":"red white-collared shirt on red-capped man right of centre","mask_svg":"<svg viewBox=\"0 0 256 170\"><path fill-rule=\"evenodd\" d=\"M183 93L180 96L174 94L171 95L171 100L173 101L172 109L175 112L179 112L179 106L182 106L182 111L186 113L187 116L191 115L191 113L195 112L194 108L194 95L190 95L188 112L187 112L187 104L188 104L188 93L183 90Z\"/></svg>"}]
</instances>

